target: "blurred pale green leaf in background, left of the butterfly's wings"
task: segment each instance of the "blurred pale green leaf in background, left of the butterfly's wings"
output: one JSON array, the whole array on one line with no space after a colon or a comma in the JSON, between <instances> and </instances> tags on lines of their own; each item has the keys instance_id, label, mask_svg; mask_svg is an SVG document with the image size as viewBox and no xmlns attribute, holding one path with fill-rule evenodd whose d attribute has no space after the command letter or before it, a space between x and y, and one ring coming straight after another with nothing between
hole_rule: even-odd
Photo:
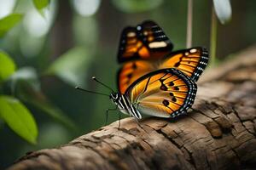
<instances>
[{"instance_id":1,"label":"blurred pale green leaf in background, left of the butterfly's wings","mask_svg":"<svg viewBox=\"0 0 256 170\"><path fill-rule=\"evenodd\" d=\"M56 59L44 74L60 77L61 80L72 86L84 86L91 56L83 47L72 48Z\"/></svg>"}]
</instances>

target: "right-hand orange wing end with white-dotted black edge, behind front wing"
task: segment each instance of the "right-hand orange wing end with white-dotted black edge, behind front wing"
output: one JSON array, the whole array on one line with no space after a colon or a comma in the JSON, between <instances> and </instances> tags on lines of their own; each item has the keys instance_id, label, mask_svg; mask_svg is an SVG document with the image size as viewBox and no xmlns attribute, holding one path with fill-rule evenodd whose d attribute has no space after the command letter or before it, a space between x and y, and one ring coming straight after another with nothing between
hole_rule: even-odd
<instances>
[{"instance_id":1,"label":"right-hand orange wing end with white-dotted black edge, behind front wing","mask_svg":"<svg viewBox=\"0 0 256 170\"><path fill-rule=\"evenodd\" d=\"M209 56L205 48L183 49L166 55L159 69L177 68L196 82L207 67L208 60Z\"/></svg>"}]
</instances>

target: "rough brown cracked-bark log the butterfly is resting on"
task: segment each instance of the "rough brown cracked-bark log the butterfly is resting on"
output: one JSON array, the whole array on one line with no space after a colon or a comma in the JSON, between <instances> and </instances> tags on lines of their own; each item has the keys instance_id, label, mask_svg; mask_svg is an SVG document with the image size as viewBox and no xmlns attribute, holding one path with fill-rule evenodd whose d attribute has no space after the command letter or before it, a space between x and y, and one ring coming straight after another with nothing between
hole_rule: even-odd
<instances>
[{"instance_id":1,"label":"rough brown cracked-bark log the butterfly is resting on","mask_svg":"<svg viewBox=\"0 0 256 170\"><path fill-rule=\"evenodd\" d=\"M199 83L193 111L176 120L113 122L9 169L255 169L256 47Z\"/></svg>"}]
</instances>

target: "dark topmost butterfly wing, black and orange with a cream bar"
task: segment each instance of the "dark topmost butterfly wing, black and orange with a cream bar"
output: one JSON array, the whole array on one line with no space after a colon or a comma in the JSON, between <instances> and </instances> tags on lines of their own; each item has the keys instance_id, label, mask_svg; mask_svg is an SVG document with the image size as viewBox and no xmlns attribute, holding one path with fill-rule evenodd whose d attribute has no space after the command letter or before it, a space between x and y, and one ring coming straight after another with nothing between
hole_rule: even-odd
<instances>
[{"instance_id":1,"label":"dark topmost butterfly wing, black and orange with a cream bar","mask_svg":"<svg viewBox=\"0 0 256 170\"><path fill-rule=\"evenodd\" d=\"M132 59L162 58L172 51L172 42L154 21L125 27L119 41L119 63Z\"/></svg>"}]
</instances>

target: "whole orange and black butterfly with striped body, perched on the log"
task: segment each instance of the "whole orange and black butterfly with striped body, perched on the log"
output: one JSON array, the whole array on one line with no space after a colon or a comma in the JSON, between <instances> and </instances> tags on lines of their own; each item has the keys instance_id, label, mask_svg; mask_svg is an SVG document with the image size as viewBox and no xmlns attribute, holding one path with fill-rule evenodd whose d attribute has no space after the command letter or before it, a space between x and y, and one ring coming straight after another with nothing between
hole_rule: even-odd
<instances>
[{"instance_id":1,"label":"whole orange and black butterfly with striped body, perched on the log","mask_svg":"<svg viewBox=\"0 0 256 170\"><path fill-rule=\"evenodd\" d=\"M117 75L119 92L93 77L112 91L102 94L116 106L107 110L107 119L108 111L117 109L137 122L143 114L175 117L187 112L195 100L195 82L207 66L208 52L201 47L175 52L172 48L172 42L154 21L125 27L118 52L122 64Z\"/></svg>"}]
</instances>

